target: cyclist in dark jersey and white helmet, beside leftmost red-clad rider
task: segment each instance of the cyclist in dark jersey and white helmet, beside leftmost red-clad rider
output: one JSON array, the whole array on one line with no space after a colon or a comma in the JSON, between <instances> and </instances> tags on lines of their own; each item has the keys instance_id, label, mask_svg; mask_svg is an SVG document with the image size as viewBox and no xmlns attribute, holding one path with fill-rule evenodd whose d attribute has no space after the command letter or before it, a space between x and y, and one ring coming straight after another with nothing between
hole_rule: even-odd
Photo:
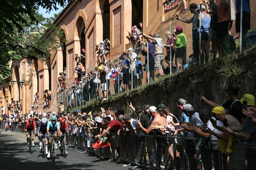
<instances>
[{"instance_id":1,"label":"cyclist in dark jersey and white helmet, beside leftmost red-clad rider","mask_svg":"<svg viewBox=\"0 0 256 170\"><path fill-rule=\"evenodd\" d=\"M45 145L47 143L47 132L46 132L46 129L47 129L47 118L43 117L42 118L42 121L40 121L39 123L39 126L38 126L38 137L39 137L39 145L40 145L40 149L42 148L42 139L44 138L45 140ZM48 154L48 150L47 150L47 145L46 145L46 148L45 148L45 152L46 154Z\"/></svg>"}]
</instances>

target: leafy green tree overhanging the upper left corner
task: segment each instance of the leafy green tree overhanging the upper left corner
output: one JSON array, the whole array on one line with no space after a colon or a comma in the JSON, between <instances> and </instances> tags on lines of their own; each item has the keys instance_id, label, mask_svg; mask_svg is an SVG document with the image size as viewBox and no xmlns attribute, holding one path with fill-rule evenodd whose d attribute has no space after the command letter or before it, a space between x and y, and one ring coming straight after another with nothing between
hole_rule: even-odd
<instances>
[{"instance_id":1,"label":"leafy green tree overhanging the upper left corner","mask_svg":"<svg viewBox=\"0 0 256 170\"><path fill-rule=\"evenodd\" d=\"M54 44L56 38L63 33L50 23L52 20L44 24L37 11L40 6L48 12L57 10L57 5L64 7L66 2L73 0L0 0L0 83L12 76L12 59L24 57L47 62L50 50L60 45Z\"/></svg>"}]
</instances>

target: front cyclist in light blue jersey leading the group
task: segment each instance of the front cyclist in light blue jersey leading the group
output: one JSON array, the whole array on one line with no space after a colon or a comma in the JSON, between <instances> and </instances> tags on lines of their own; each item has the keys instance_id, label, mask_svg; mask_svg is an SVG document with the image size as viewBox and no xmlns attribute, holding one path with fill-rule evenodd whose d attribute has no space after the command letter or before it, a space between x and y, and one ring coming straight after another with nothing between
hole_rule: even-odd
<instances>
[{"instance_id":1,"label":"front cyclist in light blue jersey leading the group","mask_svg":"<svg viewBox=\"0 0 256 170\"><path fill-rule=\"evenodd\" d=\"M52 143L53 135L54 135L54 140L57 141L57 134L58 134L58 136L60 136L60 124L57 122L56 116L52 116L51 121L49 121L47 123L46 132L47 132L47 136L49 138L49 144ZM56 144L55 144L55 148L58 148ZM50 152L48 152L47 158L50 158Z\"/></svg>"}]
</instances>

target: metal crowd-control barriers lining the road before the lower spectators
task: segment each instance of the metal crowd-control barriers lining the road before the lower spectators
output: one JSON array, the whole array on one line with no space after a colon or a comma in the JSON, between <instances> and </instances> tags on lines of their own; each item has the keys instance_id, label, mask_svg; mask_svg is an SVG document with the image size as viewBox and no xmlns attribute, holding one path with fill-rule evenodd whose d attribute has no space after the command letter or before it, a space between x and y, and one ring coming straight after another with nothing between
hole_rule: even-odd
<instances>
[{"instance_id":1,"label":"metal crowd-control barriers lining the road before the lower spectators","mask_svg":"<svg viewBox=\"0 0 256 170\"><path fill-rule=\"evenodd\" d=\"M4 129L5 122L0 122ZM23 127L22 127L23 126ZM10 125L8 131L24 132L24 125ZM82 128L82 129L81 129ZM185 133L177 137L158 136L157 130L153 135L123 134L117 135L115 131L108 133L111 145L105 148L92 148L98 139L92 133L87 134L84 127L69 126L69 147L95 152L100 158L117 158L120 150L120 159L131 164L149 168L168 169L175 166L176 170L227 170L236 166L238 169L254 169L256 153L252 146L243 140L233 142L234 152L229 156L218 150L216 141L207 140L204 146L198 149L196 138L188 138ZM81 132L80 132L81 130ZM247 162L247 163L246 163Z\"/></svg>"}]
</instances>

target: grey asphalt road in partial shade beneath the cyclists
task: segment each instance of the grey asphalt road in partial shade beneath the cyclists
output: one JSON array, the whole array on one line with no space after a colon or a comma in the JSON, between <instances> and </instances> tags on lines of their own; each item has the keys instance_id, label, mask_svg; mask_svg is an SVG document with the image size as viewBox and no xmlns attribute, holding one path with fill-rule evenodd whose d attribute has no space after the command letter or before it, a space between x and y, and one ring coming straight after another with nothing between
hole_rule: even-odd
<instances>
[{"instance_id":1,"label":"grey asphalt road in partial shade beneath the cyclists","mask_svg":"<svg viewBox=\"0 0 256 170\"><path fill-rule=\"evenodd\" d=\"M35 147L30 154L26 148L26 135L1 130L0 137L0 170L128 170L133 166L115 164L114 161L93 158L93 154L80 153L68 148L68 156L60 156L56 149L55 162L42 157L38 138L35 137ZM135 168L136 170L137 168ZM137 169L138 170L138 169Z\"/></svg>"}]
</instances>

